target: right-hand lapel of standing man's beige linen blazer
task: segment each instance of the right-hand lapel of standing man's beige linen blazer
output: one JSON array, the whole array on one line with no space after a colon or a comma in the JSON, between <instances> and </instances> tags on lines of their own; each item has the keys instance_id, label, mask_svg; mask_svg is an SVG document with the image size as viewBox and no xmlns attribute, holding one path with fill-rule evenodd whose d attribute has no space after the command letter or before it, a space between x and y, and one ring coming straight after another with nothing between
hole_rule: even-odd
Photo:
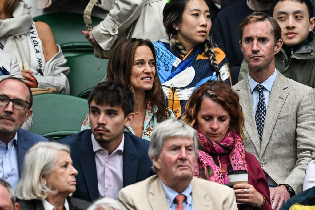
<instances>
[{"instance_id":1,"label":"right-hand lapel of standing man's beige linen blazer","mask_svg":"<svg viewBox=\"0 0 315 210\"><path fill-rule=\"evenodd\" d=\"M278 71L278 70L277 70ZM277 77L273 82L270 92L268 107L266 111L266 118L264 124L264 131L262 133L261 149L259 158L262 157L266 146L270 140L271 133L278 119L282 106L288 96L288 85L286 78L278 71Z\"/></svg>"}]
</instances>

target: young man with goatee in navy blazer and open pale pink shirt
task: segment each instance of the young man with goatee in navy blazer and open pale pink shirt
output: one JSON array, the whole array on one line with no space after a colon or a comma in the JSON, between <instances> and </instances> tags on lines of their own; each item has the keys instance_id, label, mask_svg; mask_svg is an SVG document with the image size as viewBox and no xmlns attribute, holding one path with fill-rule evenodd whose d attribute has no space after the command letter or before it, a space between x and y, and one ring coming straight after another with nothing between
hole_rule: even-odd
<instances>
[{"instance_id":1,"label":"young man with goatee in navy blazer and open pale pink shirt","mask_svg":"<svg viewBox=\"0 0 315 210\"><path fill-rule=\"evenodd\" d=\"M70 146L78 171L73 197L87 201L117 198L121 188L153 174L149 142L124 132L134 118L134 95L121 83L99 83L88 103L91 129L59 141Z\"/></svg>"}]
</instances>

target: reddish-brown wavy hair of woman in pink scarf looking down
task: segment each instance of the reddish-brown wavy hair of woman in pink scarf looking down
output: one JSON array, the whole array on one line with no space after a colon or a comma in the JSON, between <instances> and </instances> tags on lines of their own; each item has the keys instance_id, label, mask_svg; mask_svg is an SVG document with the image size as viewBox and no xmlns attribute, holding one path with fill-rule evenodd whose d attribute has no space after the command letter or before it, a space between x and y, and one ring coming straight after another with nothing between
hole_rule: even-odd
<instances>
[{"instance_id":1,"label":"reddish-brown wavy hair of woman in pink scarf looking down","mask_svg":"<svg viewBox=\"0 0 315 210\"><path fill-rule=\"evenodd\" d=\"M232 88L222 81L208 81L198 87L186 103L186 112L181 120L190 126L197 126L197 114L204 98L219 103L230 114L230 129L244 139L244 114L239 97Z\"/></svg>"}]
</instances>

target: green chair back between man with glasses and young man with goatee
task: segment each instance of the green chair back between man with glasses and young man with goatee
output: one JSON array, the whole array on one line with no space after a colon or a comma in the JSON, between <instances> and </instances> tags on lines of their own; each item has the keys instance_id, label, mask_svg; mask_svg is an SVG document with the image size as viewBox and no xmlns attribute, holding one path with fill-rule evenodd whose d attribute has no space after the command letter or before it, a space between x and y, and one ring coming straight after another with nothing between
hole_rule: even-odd
<instances>
[{"instance_id":1,"label":"green chair back between man with glasses and young man with goatee","mask_svg":"<svg viewBox=\"0 0 315 210\"><path fill-rule=\"evenodd\" d=\"M33 126L29 131L43 135L56 131L79 132L89 105L83 98L43 93L33 96L32 109Z\"/></svg>"}]
</instances>

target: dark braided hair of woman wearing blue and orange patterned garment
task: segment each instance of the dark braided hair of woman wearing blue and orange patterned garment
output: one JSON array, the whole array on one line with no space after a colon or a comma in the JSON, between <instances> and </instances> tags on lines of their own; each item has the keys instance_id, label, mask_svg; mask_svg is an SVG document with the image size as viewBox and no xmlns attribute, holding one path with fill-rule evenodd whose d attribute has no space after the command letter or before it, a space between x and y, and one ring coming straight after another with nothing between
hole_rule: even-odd
<instances>
[{"instance_id":1,"label":"dark braided hair of woman wearing blue and orange patterned garment","mask_svg":"<svg viewBox=\"0 0 315 210\"><path fill-rule=\"evenodd\" d=\"M170 47L172 50L179 52L181 55L186 55L187 51L182 42L177 37L177 31L173 27L182 22L183 12L186 8L187 3L190 0L171 0L167 3L163 9L163 25L166 29L166 33L169 36ZM210 4L208 0L204 0L210 9ZM221 80L220 67L215 57L215 44L212 43L210 36L202 43L202 48L204 49L205 55L209 58L211 67L218 76L218 80Z\"/></svg>"}]
</instances>

